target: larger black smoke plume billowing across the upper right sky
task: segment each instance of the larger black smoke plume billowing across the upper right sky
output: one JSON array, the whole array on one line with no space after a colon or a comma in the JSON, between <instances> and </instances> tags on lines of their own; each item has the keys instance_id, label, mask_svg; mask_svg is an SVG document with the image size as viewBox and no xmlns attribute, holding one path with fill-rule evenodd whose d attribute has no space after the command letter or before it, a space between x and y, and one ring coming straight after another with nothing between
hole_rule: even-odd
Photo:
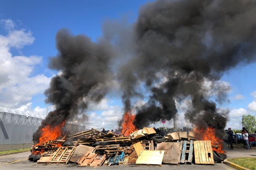
<instances>
[{"instance_id":1,"label":"larger black smoke plume billowing across the upper right sky","mask_svg":"<svg viewBox=\"0 0 256 170\"><path fill-rule=\"evenodd\" d=\"M119 72L125 111L142 95L140 85L151 89L134 124L170 120L177 113L175 100L190 96L186 119L223 129L227 113L216 102L227 101L229 87L219 80L240 63L255 61L255 16L256 2L250 0L157 0L143 6L134 26L136 56ZM212 89L205 82L216 89L216 101L209 99Z\"/></svg>"}]
</instances>

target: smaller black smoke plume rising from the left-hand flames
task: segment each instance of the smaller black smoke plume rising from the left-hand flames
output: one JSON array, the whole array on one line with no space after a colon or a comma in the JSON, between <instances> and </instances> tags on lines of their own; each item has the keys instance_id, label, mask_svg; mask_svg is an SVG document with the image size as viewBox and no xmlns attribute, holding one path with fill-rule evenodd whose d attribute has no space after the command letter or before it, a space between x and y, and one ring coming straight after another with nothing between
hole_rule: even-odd
<instances>
[{"instance_id":1,"label":"smaller black smoke plume rising from the left-hand flames","mask_svg":"<svg viewBox=\"0 0 256 170\"><path fill-rule=\"evenodd\" d=\"M49 112L34 133L34 141L38 141L45 125L59 125L86 109L88 101L99 102L112 79L109 65L113 53L108 42L94 43L84 35L73 36L62 29L56 35L56 46L58 54L51 58L49 68L60 73L44 92L56 109Z\"/></svg>"}]
</instances>

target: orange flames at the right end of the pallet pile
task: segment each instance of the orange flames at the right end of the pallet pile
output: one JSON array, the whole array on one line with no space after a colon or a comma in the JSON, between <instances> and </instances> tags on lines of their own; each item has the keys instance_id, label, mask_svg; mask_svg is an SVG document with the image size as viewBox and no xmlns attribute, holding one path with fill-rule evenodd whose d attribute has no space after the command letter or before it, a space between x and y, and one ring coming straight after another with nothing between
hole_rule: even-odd
<instances>
[{"instance_id":1,"label":"orange flames at the right end of the pallet pile","mask_svg":"<svg viewBox=\"0 0 256 170\"><path fill-rule=\"evenodd\" d=\"M212 150L217 151L218 153L225 153L223 150L223 140L216 136L215 129L212 127L207 127L207 129L204 128L197 128L194 129L195 133L197 133L197 137L200 140L204 141L211 141L212 146L218 146L218 147L212 147Z\"/></svg>"}]
</instances>

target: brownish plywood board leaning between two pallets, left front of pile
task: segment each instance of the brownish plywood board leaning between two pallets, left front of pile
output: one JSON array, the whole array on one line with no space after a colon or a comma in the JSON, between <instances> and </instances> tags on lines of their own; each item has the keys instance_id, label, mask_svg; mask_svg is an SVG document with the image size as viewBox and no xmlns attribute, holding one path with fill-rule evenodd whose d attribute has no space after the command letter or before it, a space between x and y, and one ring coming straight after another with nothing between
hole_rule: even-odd
<instances>
[{"instance_id":1,"label":"brownish plywood board leaning between two pallets, left front of pile","mask_svg":"<svg viewBox=\"0 0 256 170\"><path fill-rule=\"evenodd\" d=\"M76 147L76 150L74 151L73 155L70 158L70 161L78 163L79 160L88 152L93 152L94 147L85 146L80 144Z\"/></svg>"}]
</instances>

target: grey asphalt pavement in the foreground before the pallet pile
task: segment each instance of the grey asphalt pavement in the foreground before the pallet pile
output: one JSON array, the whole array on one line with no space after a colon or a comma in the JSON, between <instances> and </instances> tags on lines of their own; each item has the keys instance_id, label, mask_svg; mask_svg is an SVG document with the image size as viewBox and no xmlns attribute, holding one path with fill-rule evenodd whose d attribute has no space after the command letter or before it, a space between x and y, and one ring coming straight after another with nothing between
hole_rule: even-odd
<instances>
[{"instance_id":1,"label":"grey asphalt pavement in the foreground before the pallet pile","mask_svg":"<svg viewBox=\"0 0 256 170\"><path fill-rule=\"evenodd\" d=\"M28 161L30 152L18 153L8 156L0 156L0 170L95 170L93 167L79 167L77 164L37 164ZM97 169L101 170L234 170L231 167L221 163L215 165L195 165L195 164L180 164L180 165L163 165L162 167L155 166L102 166Z\"/></svg>"}]
</instances>

